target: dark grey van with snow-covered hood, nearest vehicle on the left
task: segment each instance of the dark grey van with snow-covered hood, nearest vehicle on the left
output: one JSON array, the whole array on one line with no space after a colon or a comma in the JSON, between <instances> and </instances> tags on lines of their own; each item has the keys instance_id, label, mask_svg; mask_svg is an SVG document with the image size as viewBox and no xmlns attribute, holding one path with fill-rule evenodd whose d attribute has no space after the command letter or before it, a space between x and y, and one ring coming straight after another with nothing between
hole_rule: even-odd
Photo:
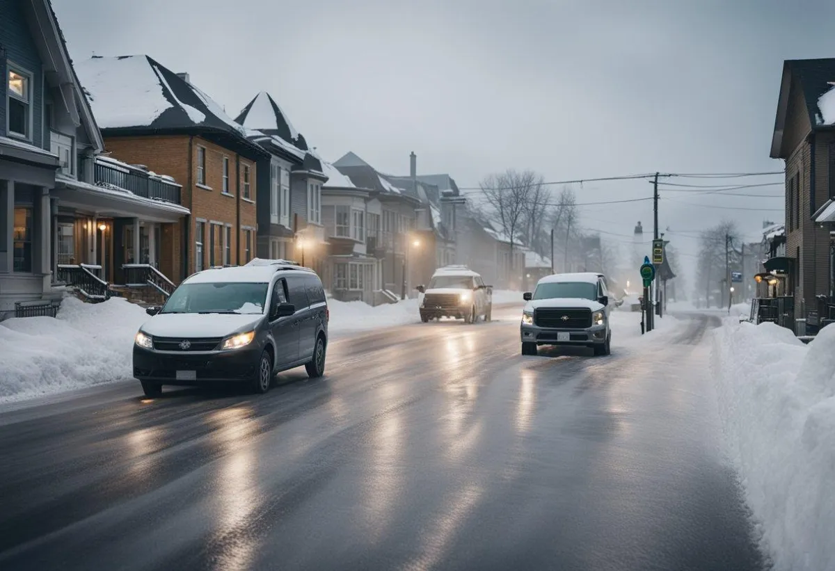
<instances>
[{"instance_id":1,"label":"dark grey van with snow-covered hood, nearest vehicle on the left","mask_svg":"<svg viewBox=\"0 0 835 571\"><path fill-rule=\"evenodd\" d=\"M148 314L134 342L134 377L148 397L163 385L221 381L263 393L277 372L325 372L325 290L316 272L294 262L256 258L200 271Z\"/></svg>"}]
</instances>

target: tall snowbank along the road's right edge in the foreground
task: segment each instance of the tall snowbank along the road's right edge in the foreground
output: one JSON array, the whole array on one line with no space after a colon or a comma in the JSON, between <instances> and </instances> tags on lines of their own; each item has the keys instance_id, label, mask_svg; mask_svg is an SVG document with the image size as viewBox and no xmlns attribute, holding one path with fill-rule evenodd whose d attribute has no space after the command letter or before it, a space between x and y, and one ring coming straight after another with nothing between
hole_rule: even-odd
<instances>
[{"instance_id":1,"label":"tall snowbank along the road's right edge in the foreground","mask_svg":"<svg viewBox=\"0 0 835 571\"><path fill-rule=\"evenodd\" d=\"M776 568L835 568L835 327L792 331L727 318L712 372L731 455Z\"/></svg>"}]
</instances>

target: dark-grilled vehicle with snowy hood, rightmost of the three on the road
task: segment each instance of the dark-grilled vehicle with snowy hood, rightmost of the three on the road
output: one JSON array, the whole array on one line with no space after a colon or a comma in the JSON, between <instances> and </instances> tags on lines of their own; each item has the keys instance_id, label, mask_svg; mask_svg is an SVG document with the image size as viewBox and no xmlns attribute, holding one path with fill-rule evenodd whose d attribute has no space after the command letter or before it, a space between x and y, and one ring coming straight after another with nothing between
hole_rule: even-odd
<instances>
[{"instance_id":1,"label":"dark-grilled vehicle with snowy hood, rightmost of the three on the road","mask_svg":"<svg viewBox=\"0 0 835 571\"><path fill-rule=\"evenodd\" d=\"M549 275L526 292L520 335L522 354L536 355L540 345L587 346L609 355L609 291L603 274Z\"/></svg>"}]
</instances>

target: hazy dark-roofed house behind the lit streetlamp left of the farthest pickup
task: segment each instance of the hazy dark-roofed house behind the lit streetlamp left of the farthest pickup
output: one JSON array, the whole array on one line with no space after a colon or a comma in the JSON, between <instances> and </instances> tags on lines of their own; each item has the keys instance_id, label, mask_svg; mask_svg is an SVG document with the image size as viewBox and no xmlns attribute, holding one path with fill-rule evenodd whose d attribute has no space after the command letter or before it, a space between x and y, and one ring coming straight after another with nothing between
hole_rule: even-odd
<instances>
[{"instance_id":1,"label":"hazy dark-roofed house behind the lit streetlamp left of the farthest pickup","mask_svg":"<svg viewBox=\"0 0 835 571\"><path fill-rule=\"evenodd\" d=\"M409 266L416 257L427 255L423 242L415 235L416 210L421 208L419 197L408 189L392 184L384 174L374 169L357 154L349 152L333 163L360 189L372 191L380 203L380 217L370 215L367 226L376 234L367 252L380 260L382 290L397 296L416 295L416 287L423 283L410 273ZM378 228L379 230L374 230ZM434 250L431 254L434 258ZM419 259L419 258L418 258Z\"/></svg>"}]
</instances>

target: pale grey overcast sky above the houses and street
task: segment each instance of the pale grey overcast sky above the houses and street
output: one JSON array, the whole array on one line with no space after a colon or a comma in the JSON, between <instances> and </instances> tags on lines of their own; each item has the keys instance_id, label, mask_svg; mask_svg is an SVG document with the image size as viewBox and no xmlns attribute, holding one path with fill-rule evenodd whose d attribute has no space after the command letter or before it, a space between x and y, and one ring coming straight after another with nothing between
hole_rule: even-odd
<instances>
[{"instance_id":1,"label":"pale grey overcast sky above the houses and street","mask_svg":"<svg viewBox=\"0 0 835 571\"><path fill-rule=\"evenodd\" d=\"M413 150L420 173L461 187L509 167L547 180L782 169L768 158L782 60L835 56L827 0L53 4L75 60L146 53L233 117L266 90L325 159L352 150L406 174ZM765 179L750 182L782 180ZM642 180L576 191L579 202L651 193ZM763 219L782 220L779 199L695 195L660 202L660 226L685 255L691 230L721 219L748 240ZM650 230L651 209L584 206L581 221L618 240L637 220Z\"/></svg>"}]
</instances>

